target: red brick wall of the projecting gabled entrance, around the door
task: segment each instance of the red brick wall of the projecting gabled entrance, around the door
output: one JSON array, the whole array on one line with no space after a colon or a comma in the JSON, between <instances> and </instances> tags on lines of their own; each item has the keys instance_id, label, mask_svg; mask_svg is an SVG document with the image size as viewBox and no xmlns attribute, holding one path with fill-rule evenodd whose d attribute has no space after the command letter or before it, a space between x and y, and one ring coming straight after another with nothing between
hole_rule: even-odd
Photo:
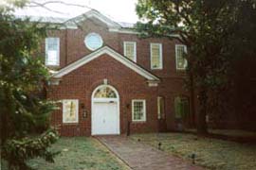
<instances>
[{"instance_id":1,"label":"red brick wall of the projecting gabled entrance, around the door","mask_svg":"<svg viewBox=\"0 0 256 170\"><path fill-rule=\"evenodd\" d=\"M131 132L157 130L156 96L157 87L149 87L146 79L107 55L94 59L79 69L63 77L60 85L49 86L47 97L53 100L79 99L78 124L62 124L63 113L56 110L52 114L52 125L61 126L61 134L66 136L90 135L91 95L94 89L107 78L108 83L119 92L120 132L125 133L127 121L132 122L132 99L146 100L146 123L132 123ZM82 118L81 104L89 114Z\"/></svg>"}]
</instances>

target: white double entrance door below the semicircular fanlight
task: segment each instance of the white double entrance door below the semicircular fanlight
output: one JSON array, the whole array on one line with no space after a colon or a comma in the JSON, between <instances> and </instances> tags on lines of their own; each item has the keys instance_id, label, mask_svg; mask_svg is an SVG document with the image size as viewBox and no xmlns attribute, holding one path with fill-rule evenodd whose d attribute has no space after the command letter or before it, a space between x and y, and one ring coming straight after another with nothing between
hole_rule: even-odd
<instances>
[{"instance_id":1,"label":"white double entrance door below the semicircular fanlight","mask_svg":"<svg viewBox=\"0 0 256 170\"><path fill-rule=\"evenodd\" d=\"M119 134L118 102L94 102L92 135Z\"/></svg>"}]
</instances>

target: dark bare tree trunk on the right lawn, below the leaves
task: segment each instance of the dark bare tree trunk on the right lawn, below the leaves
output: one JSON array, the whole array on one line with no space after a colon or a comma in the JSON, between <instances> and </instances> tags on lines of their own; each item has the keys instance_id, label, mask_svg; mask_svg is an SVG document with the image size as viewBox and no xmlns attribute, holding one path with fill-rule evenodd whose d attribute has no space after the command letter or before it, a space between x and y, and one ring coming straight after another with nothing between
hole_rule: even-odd
<instances>
[{"instance_id":1,"label":"dark bare tree trunk on the right lawn, below the leaves","mask_svg":"<svg viewBox=\"0 0 256 170\"><path fill-rule=\"evenodd\" d=\"M207 115L207 90L206 88L200 89L199 92L199 111L197 115L197 133L198 134L207 134L207 122L206 122L206 115Z\"/></svg>"}]
</instances>

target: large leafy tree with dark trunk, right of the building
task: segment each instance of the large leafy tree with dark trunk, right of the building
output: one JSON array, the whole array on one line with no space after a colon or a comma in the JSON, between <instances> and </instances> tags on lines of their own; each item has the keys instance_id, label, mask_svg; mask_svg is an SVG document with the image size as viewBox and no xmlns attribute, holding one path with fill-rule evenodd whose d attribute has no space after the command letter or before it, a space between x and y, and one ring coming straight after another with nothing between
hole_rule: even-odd
<instances>
[{"instance_id":1,"label":"large leafy tree with dark trunk, right of the building","mask_svg":"<svg viewBox=\"0 0 256 170\"><path fill-rule=\"evenodd\" d=\"M240 57L236 50L245 51L234 43L247 42L254 34L253 31L245 33L246 29L255 28L255 25L249 26L252 18L245 22L241 17L247 13L246 8L255 16L252 0L138 0L137 14L144 23L137 23L137 29L142 37L167 37L188 47L189 85L199 94L199 132L207 130L206 114L214 104L211 96L216 94L218 97L219 92L229 90L232 64L235 57ZM243 23L248 27L244 28ZM238 30L242 30L240 34L244 33L243 40L238 38Z\"/></svg>"}]
</instances>

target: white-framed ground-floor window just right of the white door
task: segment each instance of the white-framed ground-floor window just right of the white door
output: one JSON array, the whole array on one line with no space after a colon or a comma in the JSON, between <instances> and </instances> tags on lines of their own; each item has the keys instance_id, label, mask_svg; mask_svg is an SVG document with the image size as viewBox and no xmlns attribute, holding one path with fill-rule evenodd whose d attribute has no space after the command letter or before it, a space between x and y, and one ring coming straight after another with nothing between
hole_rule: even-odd
<instances>
[{"instance_id":1,"label":"white-framed ground-floor window just right of the white door","mask_svg":"<svg viewBox=\"0 0 256 170\"><path fill-rule=\"evenodd\" d=\"M133 121L144 122L146 121L146 101L145 100L133 100Z\"/></svg>"}]
</instances>

